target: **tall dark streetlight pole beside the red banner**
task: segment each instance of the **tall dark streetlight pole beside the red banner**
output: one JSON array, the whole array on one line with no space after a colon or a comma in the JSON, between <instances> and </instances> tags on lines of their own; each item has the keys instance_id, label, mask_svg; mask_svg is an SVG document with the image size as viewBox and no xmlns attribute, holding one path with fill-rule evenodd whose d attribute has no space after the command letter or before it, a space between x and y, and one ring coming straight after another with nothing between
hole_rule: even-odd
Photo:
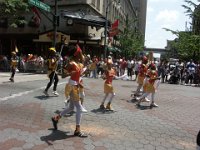
<instances>
[{"instance_id":1,"label":"tall dark streetlight pole beside the red banner","mask_svg":"<svg viewBox=\"0 0 200 150\"><path fill-rule=\"evenodd\" d=\"M107 6L106 6L106 22L105 22L105 31L104 31L104 35L105 35L105 39L104 39L104 58L106 58L107 55L107 27L108 27L108 8L109 6L116 0L111 0L110 2L108 2L109 0L107 0ZM117 4L120 4L120 0L118 0Z\"/></svg>"}]
</instances>

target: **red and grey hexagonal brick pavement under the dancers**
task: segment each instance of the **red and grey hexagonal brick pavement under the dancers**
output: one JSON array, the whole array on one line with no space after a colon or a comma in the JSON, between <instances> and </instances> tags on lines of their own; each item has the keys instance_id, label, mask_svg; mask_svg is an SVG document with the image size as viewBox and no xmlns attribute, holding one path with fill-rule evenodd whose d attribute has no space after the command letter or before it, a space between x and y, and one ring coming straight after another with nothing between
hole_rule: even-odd
<instances>
[{"instance_id":1,"label":"red and grey hexagonal brick pavement under the dancers","mask_svg":"<svg viewBox=\"0 0 200 150\"><path fill-rule=\"evenodd\" d=\"M46 99L33 92L0 102L0 150L195 149L200 122L199 88L162 84L156 95L159 108L138 109L127 102L136 83L115 80L115 112L104 113L97 109L104 96L103 80L84 82L89 112L83 115L82 129L89 134L88 138L72 135L75 115L64 117L58 131L51 130L50 117L64 107L64 85L60 85L59 97Z\"/></svg>"}]
</instances>

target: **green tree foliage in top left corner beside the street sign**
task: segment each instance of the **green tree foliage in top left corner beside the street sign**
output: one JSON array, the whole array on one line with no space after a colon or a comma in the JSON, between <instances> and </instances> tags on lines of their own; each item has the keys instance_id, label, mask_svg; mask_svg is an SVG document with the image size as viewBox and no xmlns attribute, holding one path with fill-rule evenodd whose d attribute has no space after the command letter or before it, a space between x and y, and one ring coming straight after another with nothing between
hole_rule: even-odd
<instances>
[{"instance_id":1,"label":"green tree foliage in top left corner beside the street sign","mask_svg":"<svg viewBox=\"0 0 200 150\"><path fill-rule=\"evenodd\" d=\"M29 11L29 5L25 0L5 0L0 4L0 13L5 14L9 20L9 26L20 27L27 22L22 14Z\"/></svg>"}]
</instances>

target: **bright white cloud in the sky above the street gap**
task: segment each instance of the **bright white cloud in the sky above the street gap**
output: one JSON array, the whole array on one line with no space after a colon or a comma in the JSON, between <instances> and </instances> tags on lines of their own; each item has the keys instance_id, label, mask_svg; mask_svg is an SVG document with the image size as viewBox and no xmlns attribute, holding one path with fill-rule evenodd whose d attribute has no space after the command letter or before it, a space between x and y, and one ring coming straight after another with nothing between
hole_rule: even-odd
<instances>
[{"instance_id":1,"label":"bright white cloud in the sky above the street gap","mask_svg":"<svg viewBox=\"0 0 200 150\"><path fill-rule=\"evenodd\" d=\"M176 10L163 10L156 16L156 21L164 24L175 23L178 21L180 13Z\"/></svg>"}]
</instances>

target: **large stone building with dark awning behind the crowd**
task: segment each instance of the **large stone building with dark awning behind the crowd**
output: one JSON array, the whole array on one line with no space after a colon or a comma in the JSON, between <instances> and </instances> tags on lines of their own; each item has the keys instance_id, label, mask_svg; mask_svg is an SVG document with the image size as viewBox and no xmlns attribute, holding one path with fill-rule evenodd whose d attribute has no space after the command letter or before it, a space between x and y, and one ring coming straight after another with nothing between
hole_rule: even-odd
<instances>
[{"instance_id":1,"label":"large stone building with dark awning behind the crowd","mask_svg":"<svg viewBox=\"0 0 200 150\"><path fill-rule=\"evenodd\" d=\"M0 17L0 54L8 55L17 47L23 54L46 55L48 47L54 45L55 41L59 49L61 43L67 40L67 43L79 43L86 53L102 56L106 19L108 30L116 19L119 19L119 30L123 30L127 18L138 18L139 21L134 27L145 35L147 0L121 0L120 5L118 2L118 0L43 0L42 3L50 6L51 13L35 7L29 13L22 15L28 24L19 28L8 27L9 18ZM55 14L57 17L54 20ZM2 22L5 24L2 25ZM116 42L113 40L113 43Z\"/></svg>"}]
</instances>

